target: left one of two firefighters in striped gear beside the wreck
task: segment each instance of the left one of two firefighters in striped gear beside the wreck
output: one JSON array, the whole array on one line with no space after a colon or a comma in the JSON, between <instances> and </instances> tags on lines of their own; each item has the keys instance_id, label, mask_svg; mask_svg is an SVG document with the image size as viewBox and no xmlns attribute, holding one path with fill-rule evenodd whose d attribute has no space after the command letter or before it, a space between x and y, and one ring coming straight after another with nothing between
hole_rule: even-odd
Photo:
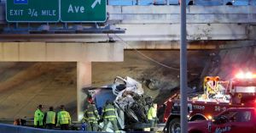
<instances>
[{"instance_id":1,"label":"left one of two firefighters in striped gear beside the wreck","mask_svg":"<svg viewBox=\"0 0 256 133\"><path fill-rule=\"evenodd\" d=\"M100 115L96 109L94 102L89 103L87 109L84 111L84 121L87 123L88 131L98 131L98 121L100 119Z\"/></svg>"}]
</instances>

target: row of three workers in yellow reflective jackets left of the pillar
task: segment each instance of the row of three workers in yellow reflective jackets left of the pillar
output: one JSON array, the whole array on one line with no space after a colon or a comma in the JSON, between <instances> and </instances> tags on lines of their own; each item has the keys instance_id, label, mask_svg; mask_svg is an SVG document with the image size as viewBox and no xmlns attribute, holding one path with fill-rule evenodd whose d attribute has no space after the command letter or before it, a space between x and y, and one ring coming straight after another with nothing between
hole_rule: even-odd
<instances>
[{"instance_id":1,"label":"row of three workers in yellow reflective jackets left of the pillar","mask_svg":"<svg viewBox=\"0 0 256 133\"><path fill-rule=\"evenodd\" d=\"M61 130L69 130L71 124L70 114L65 110L64 105L61 105L60 111L56 114L53 107L49 107L49 111L43 112L43 106L39 105L34 114L34 126L36 128L53 129L55 126L60 126Z\"/></svg>"}]
</instances>

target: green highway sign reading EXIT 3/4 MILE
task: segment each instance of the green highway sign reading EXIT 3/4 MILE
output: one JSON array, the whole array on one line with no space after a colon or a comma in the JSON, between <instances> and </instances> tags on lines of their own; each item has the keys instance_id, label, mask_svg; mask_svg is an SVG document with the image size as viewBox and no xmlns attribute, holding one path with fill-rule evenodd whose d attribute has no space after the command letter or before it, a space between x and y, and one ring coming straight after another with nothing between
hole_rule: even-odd
<instances>
[{"instance_id":1,"label":"green highway sign reading EXIT 3/4 MILE","mask_svg":"<svg viewBox=\"0 0 256 133\"><path fill-rule=\"evenodd\" d=\"M8 22L58 22L59 0L7 0Z\"/></svg>"}]
</instances>

